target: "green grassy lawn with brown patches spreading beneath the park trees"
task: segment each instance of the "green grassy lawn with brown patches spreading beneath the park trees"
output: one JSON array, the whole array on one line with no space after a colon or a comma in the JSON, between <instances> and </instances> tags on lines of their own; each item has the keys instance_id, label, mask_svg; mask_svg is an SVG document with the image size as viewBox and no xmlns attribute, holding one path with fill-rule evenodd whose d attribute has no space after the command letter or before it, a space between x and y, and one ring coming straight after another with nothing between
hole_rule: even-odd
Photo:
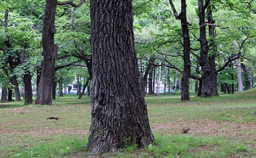
<instances>
[{"instance_id":1,"label":"green grassy lawn with brown patches spreading beneath the park trees","mask_svg":"<svg viewBox=\"0 0 256 158\"><path fill-rule=\"evenodd\" d=\"M146 96L154 144L102 157L255 157L256 90L219 97ZM65 95L53 106L0 103L0 157L100 157L86 153L90 98ZM57 120L46 120L58 117ZM181 129L190 127L187 134Z\"/></svg>"}]
</instances>

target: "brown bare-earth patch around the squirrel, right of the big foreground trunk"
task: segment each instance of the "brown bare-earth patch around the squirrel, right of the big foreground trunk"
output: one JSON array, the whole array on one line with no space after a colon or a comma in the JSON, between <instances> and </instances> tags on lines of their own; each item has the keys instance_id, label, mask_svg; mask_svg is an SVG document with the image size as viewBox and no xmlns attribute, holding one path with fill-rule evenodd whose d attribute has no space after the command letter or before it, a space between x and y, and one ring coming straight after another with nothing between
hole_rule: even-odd
<instances>
[{"instance_id":1,"label":"brown bare-earth patch around the squirrel, right of the big foreground trunk","mask_svg":"<svg viewBox=\"0 0 256 158\"><path fill-rule=\"evenodd\" d=\"M200 120L194 122L153 124L151 128L160 133L178 134L183 127L190 127L188 134L234 137L234 139L256 139L256 126L251 122L228 122Z\"/></svg>"}]
</instances>

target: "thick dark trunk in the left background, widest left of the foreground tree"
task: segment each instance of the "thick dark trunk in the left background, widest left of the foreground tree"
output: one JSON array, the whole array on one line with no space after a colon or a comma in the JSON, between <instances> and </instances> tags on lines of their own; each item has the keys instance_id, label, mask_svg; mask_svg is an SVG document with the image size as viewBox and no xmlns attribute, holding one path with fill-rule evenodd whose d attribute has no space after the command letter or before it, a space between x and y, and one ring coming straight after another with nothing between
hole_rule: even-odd
<instances>
[{"instance_id":1,"label":"thick dark trunk in the left background, widest left of the foreground tree","mask_svg":"<svg viewBox=\"0 0 256 158\"><path fill-rule=\"evenodd\" d=\"M36 104L52 104L52 81L55 72L55 58L58 47L54 45L55 13L57 1L46 0L43 21L43 68L39 82L39 89L36 95Z\"/></svg>"}]
</instances>

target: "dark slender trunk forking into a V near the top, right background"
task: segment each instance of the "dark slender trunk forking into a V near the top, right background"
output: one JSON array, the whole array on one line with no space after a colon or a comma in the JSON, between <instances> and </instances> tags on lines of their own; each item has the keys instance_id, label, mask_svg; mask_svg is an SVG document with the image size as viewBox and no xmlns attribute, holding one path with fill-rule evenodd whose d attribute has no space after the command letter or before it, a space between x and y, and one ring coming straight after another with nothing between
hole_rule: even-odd
<instances>
[{"instance_id":1,"label":"dark slender trunk forking into a V near the top, right background","mask_svg":"<svg viewBox=\"0 0 256 158\"><path fill-rule=\"evenodd\" d=\"M181 101L190 100L189 96L189 76L190 76L190 38L187 22L186 0L181 1L181 12L178 15L171 0L169 0L172 11L176 19L180 19L183 37L183 74L181 77Z\"/></svg>"}]
</instances>

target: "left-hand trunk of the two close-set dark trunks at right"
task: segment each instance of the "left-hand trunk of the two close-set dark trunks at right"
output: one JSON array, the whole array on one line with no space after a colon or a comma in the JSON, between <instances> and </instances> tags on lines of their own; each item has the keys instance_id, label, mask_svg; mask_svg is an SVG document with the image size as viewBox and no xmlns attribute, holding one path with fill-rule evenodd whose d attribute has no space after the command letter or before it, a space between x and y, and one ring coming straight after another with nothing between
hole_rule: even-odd
<instances>
[{"instance_id":1,"label":"left-hand trunk of the two close-set dark trunks at right","mask_svg":"<svg viewBox=\"0 0 256 158\"><path fill-rule=\"evenodd\" d=\"M208 51L209 47L206 40L206 27L205 27L205 9L204 9L204 0L198 0L198 9L199 9L199 28L200 28L200 66L202 69L202 90L201 96L207 97L211 96L211 87L210 87L210 67L208 60Z\"/></svg>"}]
</instances>

